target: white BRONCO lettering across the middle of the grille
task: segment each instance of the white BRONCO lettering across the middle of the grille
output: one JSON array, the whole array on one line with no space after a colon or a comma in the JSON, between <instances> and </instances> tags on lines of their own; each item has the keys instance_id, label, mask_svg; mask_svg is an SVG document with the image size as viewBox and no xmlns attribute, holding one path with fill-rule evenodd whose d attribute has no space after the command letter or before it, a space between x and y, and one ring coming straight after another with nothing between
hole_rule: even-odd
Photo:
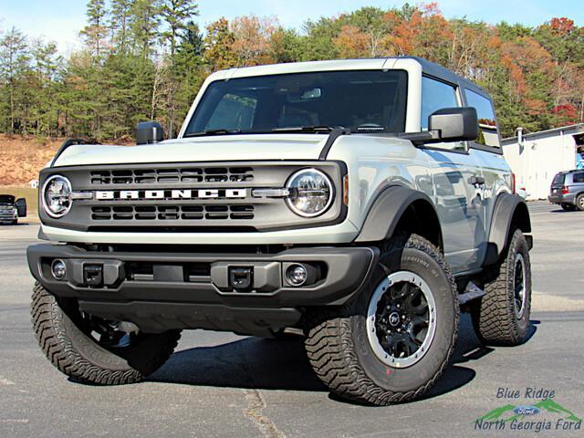
<instances>
[{"instance_id":1,"label":"white BRONCO lettering across the middle of the grille","mask_svg":"<svg viewBox=\"0 0 584 438\"><path fill-rule=\"evenodd\" d=\"M245 197L247 197L247 189L110 190L95 193L95 199L98 201L125 199L238 199Z\"/></svg>"}]
</instances>

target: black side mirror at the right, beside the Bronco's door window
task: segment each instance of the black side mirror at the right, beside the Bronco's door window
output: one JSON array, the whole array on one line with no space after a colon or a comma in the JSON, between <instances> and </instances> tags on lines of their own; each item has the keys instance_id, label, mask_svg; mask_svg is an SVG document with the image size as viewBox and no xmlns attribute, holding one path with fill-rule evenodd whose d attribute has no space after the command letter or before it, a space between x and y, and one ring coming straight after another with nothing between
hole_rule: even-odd
<instances>
[{"instance_id":1,"label":"black side mirror at the right, beside the Bronco's door window","mask_svg":"<svg viewBox=\"0 0 584 438\"><path fill-rule=\"evenodd\" d=\"M439 131L436 141L473 141L478 137L478 118L471 107L443 108L428 118L428 130Z\"/></svg>"}]
</instances>

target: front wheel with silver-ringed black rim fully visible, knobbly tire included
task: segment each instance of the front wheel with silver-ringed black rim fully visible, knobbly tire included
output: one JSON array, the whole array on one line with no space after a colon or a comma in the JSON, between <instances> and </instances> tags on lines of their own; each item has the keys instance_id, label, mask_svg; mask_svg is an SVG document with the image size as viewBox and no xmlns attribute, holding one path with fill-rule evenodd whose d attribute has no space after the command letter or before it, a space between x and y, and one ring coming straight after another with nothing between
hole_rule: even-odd
<instances>
[{"instance_id":1,"label":"front wheel with silver-ringed black rim fully visible, knobbly tire included","mask_svg":"<svg viewBox=\"0 0 584 438\"><path fill-rule=\"evenodd\" d=\"M375 405L409 401L442 375L458 318L454 276L438 248L417 235L396 236L360 294L316 316L308 359L340 397Z\"/></svg>"}]
</instances>

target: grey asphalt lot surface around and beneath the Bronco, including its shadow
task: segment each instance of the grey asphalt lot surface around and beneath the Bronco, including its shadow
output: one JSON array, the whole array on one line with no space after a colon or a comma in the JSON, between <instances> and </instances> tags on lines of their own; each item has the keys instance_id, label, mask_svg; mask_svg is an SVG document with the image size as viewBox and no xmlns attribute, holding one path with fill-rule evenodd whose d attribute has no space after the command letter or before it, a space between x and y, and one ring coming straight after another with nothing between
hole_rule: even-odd
<instances>
[{"instance_id":1,"label":"grey asphalt lot surface around and beneath the Bronco, including its shadow","mask_svg":"<svg viewBox=\"0 0 584 438\"><path fill-rule=\"evenodd\" d=\"M582 436L574 418L584 418L584 213L548 203L529 208L531 338L515 348L484 348L464 316L453 366L433 391L384 408L330 395L299 338L184 331L175 354L148 381L69 381L38 348L30 325L26 246L36 241L37 225L0 226L0 437ZM571 431L564 430L567 412L543 406L515 428L506 422L497 431L493 422L482 430L475 422L496 408L543 398L571 412Z\"/></svg>"}]
</instances>

